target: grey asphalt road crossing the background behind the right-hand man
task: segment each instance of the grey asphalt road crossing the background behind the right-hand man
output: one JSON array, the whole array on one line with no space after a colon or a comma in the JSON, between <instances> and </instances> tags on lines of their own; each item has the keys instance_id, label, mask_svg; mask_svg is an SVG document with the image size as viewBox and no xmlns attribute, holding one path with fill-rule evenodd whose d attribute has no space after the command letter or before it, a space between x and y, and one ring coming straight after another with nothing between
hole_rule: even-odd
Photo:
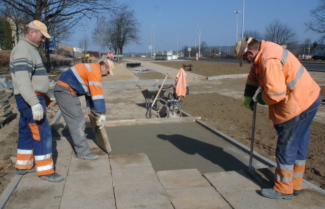
<instances>
[{"instance_id":1,"label":"grey asphalt road crossing the background behind the right-hand man","mask_svg":"<svg viewBox=\"0 0 325 209\"><path fill-rule=\"evenodd\" d=\"M179 57L178 59L184 59L184 60L193 60L194 58L188 58L188 57ZM201 61L207 61L207 62L224 62L224 63L239 63L237 59L212 59L212 58L202 58ZM316 71L316 72L325 72L325 62L319 62L319 63L310 63L310 62L303 62L301 61L303 66L308 71ZM250 65L246 62L244 62L244 65Z\"/></svg>"}]
</instances>

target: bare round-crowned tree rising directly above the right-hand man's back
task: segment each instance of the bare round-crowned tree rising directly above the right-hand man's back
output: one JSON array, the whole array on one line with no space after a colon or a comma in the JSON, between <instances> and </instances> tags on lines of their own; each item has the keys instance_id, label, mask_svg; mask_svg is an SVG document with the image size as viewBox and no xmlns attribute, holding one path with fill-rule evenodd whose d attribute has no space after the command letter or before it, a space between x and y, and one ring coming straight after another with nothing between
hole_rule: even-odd
<instances>
[{"instance_id":1,"label":"bare round-crowned tree rising directly above the right-hand man's back","mask_svg":"<svg viewBox=\"0 0 325 209\"><path fill-rule=\"evenodd\" d=\"M265 40L286 45L287 48L294 48L298 43L296 31L279 19L273 20L265 27Z\"/></svg>"}]
</instances>

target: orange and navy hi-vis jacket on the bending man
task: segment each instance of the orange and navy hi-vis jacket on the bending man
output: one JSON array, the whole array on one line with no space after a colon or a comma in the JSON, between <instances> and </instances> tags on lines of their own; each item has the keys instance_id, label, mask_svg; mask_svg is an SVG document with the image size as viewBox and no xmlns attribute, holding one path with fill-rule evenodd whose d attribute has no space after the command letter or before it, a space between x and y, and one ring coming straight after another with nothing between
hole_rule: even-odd
<instances>
[{"instance_id":1,"label":"orange and navy hi-vis jacket on the bending man","mask_svg":"<svg viewBox=\"0 0 325 209\"><path fill-rule=\"evenodd\" d=\"M72 66L61 74L57 83L63 86L64 83L68 84L67 87L71 87L77 96L85 95L87 106L94 107L95 112L106 112L100 64L83 63Z\"/></svg>"}]
</instances>

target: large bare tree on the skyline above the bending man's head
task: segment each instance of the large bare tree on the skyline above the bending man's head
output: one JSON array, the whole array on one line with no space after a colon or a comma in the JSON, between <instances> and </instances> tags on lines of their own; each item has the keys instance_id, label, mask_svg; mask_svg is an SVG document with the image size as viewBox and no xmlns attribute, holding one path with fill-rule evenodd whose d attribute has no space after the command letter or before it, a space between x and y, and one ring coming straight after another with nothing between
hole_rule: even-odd
<instances>
[{"instance_id":1,"label":"large bare tree on the skyline above the bending man's head","mask_svg":"<svg viewBox=\"0 0 325 209\"><path fill-rule=\"evenodd\" d=\"M125 6L122 10L115 13L109 20L110 27L108 34L110 34L111 46L118 49L118 54L123 54L123 47L135 43L140 43L140 26L141 23L135 17L135 11L129 10ZM109 47L110 48L110 47Z\"/></svg>"}]
</instances>

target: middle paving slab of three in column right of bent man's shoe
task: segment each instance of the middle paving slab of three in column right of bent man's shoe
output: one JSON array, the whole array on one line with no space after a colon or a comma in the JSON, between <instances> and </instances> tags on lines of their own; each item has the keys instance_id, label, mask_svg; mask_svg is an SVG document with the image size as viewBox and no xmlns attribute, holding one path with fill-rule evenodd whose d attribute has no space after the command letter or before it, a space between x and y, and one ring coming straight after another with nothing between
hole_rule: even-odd
<instances>
[{"instance_id":1,"label":"middle paving slab of three in column right of bent man's shoe","mask_svg":"<svg viewBox=\"0 0 325 209\"><path fill-rule=\"evenodd\" d=\"M124 166L112 169L113 184L130 184L158 182L157 175L151 165Z\"/></svg>"}]
</instances>

